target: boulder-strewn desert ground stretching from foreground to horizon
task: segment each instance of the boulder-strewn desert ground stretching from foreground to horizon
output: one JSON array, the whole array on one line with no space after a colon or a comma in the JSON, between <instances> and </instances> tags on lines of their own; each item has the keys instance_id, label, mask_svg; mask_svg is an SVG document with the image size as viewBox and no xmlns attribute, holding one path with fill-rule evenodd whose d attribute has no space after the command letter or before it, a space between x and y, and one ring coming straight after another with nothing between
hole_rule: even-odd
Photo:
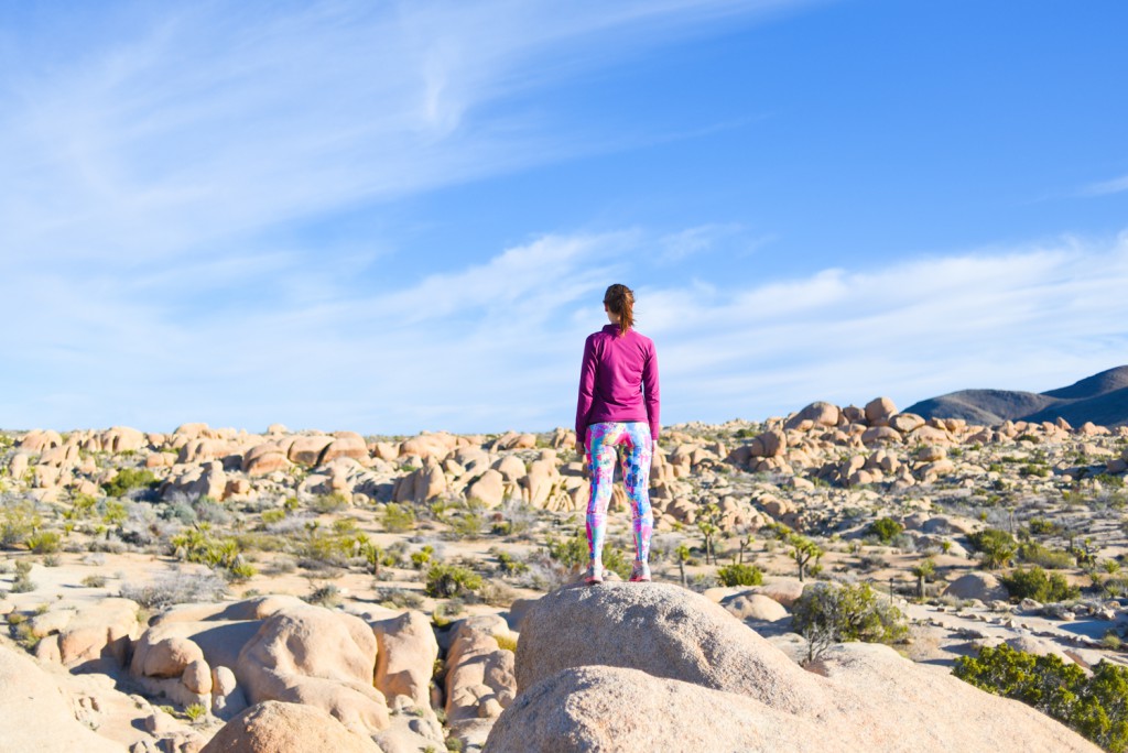
<instances>
[{"instance_id":1,"label":"boulder-strewn desert ground stretching from foreground to horizon","mask_svg":"<svg viewBox=\"0 0 1128 753\"><path fill-rule=\"evenodd\" d=\"M0 432L0 751L1098 750L951 667L1128 664L1128 427L887 398L668 427L655 583L596 587L573 443ZM823 582L907 635L805 661Z\"/></svg>"}]
</instances>

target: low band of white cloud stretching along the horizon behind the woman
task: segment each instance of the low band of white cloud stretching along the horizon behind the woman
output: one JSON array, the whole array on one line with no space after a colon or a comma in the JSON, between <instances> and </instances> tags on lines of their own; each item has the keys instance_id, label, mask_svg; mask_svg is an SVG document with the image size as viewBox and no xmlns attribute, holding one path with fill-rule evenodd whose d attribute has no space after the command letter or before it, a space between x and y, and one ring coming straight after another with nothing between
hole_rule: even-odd
<instances>
[{"instance_id":1,"label":"low band of white cloud stretching along the horizon behind the woman","mask_svg":"<svg viewBox=\"0 0 1128 753\"><path fill-rule=\"evenodd\" d=\"M7 335L29 367L0 415L60 428L74 417L152 429L566 425L583 338L603 322L602 287L636 274L625 260L643 263L654 240L546 236L402 291L338 287L333 303L284 315L174 320L113 281L89 300L78 281L37 282L35 296L12 287L3 294L36 326ZM763 418L816 399L889 395L905 407L966 387L1059 387L1123 362L1126 284L1128 233L637 293L672 423Z\"/></svg>"}]
</instances>

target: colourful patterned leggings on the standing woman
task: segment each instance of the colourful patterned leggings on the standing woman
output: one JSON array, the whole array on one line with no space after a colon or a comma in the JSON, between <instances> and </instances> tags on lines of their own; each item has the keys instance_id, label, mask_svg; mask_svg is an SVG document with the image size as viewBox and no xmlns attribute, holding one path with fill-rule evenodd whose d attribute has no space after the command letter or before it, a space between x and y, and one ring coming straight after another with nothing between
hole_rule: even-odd
<instances>
[{"instance_id":1,"label":"colourful patterned leggings on the standing woman","mask_svg":"<svg viewBox=\"0 0 1128 753\"><path fill-rule=\"evenodd\" d=\"M607 538L607 505L611 500L615 448L624 445L623 486L634 513L635 558L650 558L654 513L650 508L650 461L653 442L644 422L591 424L588 426L591 497L588 502L588 548L592 564L601 562Z\"/></svg>"}]
</instances>

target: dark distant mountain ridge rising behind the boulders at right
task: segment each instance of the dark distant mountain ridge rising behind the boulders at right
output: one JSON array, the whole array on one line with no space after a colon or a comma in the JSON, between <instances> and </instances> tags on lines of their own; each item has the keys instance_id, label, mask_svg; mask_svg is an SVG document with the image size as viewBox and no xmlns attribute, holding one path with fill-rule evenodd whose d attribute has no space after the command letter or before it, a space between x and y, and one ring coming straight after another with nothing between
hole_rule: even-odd
<instances>
[{"instance_id":1,"label":"dark distant mountain ridge rising behind the boulders at right","mask_svg":"<svg viewBox=\"0 0 1128 753\"><path fill-rule=\"evenodd\" d=\"M1128 366L1086 376L1047 392L960 390L922 400L906 408L925 418L964 418L994 425L1004 420L1057 420L1073 426L1091 420L1099 426L1128 425Z\"/></svg>"}]
</instances>

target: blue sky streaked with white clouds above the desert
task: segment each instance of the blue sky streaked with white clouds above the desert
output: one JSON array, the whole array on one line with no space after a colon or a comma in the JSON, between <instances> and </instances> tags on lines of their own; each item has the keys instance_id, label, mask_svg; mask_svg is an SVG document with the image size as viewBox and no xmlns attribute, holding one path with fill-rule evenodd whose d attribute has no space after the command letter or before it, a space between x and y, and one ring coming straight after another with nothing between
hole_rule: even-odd
<instances>
[{"instance_id":1,"label":"blue sky streaked with white clouds above the desert","mask_svg":"<svg viewBox=\"0 0 1128 753\"><path fill-rule=\"evenodd\" d=\"M182 3L184 5L184 3ZM663 423L1128 363L1119 0L0 2L0 426Z\"/></svg>"}]
</instances>

